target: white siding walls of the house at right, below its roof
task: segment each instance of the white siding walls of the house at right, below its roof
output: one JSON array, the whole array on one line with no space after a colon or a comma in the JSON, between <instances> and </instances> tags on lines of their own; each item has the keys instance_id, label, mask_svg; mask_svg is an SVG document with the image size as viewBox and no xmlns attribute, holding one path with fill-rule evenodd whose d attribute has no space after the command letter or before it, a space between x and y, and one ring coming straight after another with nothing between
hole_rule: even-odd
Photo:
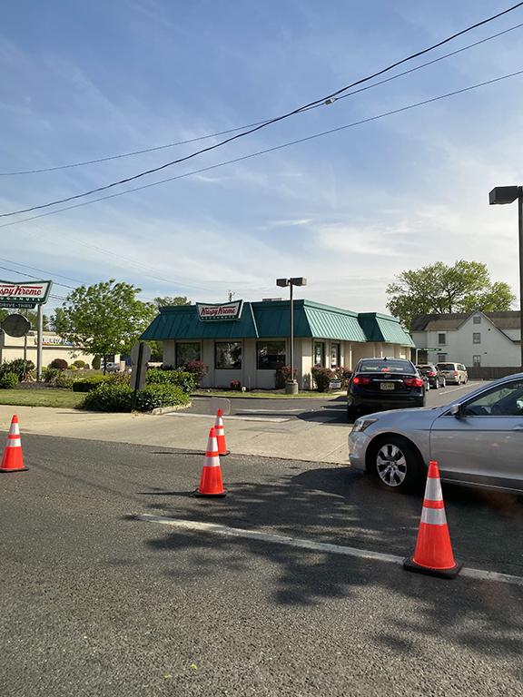
<instances>
[{"instance_id":1,"label":"white siding walls of the house at right, below its roof","mask_svg":"<svg viewBox=\"0 0 523 697\"><path fill-rule=\"evenodd\" d=\"M481 335L479 344L473 343L475 332ZM439 334L443 333L446 335L446 343L439 344ZM505 333L500 331L482 315L480 324L474 324L470 316L458 329L445 329L442 326L431 331L416 331L412 338L418 348L437 348L427 352L430 363L437 363L439 354L446 354L447 361L471 367L474 365L474 356L480 356L482 368L497 368L519 365L519 344L515 344L507 336L518 339L518 334L518 329L509 329Z\"/></svg>"}]
</instances>

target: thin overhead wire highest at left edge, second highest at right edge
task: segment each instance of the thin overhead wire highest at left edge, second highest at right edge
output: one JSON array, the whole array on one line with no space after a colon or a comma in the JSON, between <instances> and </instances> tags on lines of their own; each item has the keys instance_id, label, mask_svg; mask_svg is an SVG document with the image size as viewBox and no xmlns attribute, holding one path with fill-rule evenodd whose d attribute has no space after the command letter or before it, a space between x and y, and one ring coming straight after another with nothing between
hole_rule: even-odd
<instances>
[{"instance_id":1,"label":"thin overhead wire highest at left edge, second highest at right edge","mask_svg":"<svg viewBox=\"0 0 523 697\"><path fill-rule=\"evenodd\" d=\"M410 70L405 70L402 73L398 73L396 75L392 75L391 77L385 78L385 80L380 80L377 83L372 83L368 84L365 87L360 87L359 90L354 90L353 92L350 92L348 94L341 94L339 97L334 99L334 102L338 102L340 99L346 99L347 97L351 97L353 94L358 94L360 92L366 92L367 90L371 90L373 87L378 87L380 84L385 84L385 83L390 83L393 80L397 80L399 77L403 77L404 75L408 75L411 73L415 73L418 70L421 70L422 68L426 68L429 65L433 65L435 63L439 63L440 61L445 60L446 58L450 58L453 55L461 54L464 51L469 51L470 48L474 48L475 46L479 46L479 44L485 44L488 41L491 41L492 39L497 39L498 36L503 36L504 34L508 34L509 32L513 32L516 29L519 29L523 26L523 23L519 25L514 25L508 27L508 29L503 30L502 32L498 32L497 34L491 34L490 36L487 36L484 39L480 39L479 41L475 41L473 44L468 44L466 46L463 46L462 48L459 48L457 51L451 51L449 54L444 54L440 55L439 58L435 58L432 61L428 61L427 63L422 63L420 65L416 65L414 68L410 68ZM306 109L302 109L300 113L306 113L308 111L311 111L311 109L318 109L321 106L326 106L324 102L321 102L319 104L314 104L313 106L310 106ZM40 174L43 172L57 172L58 170L68 170L72 169L74 167L84 167L89 164L97 164L99 162L109 162L112 160L121 160L125 157L133 157L134 155L142 155L143 153L146 152L156 152L159 150L166 150L167 148L173 148L176 145L187 145L188 143L191 142L199 142L199 141L205 141L208 140L209 138L217 138L220 135L227 135L228 133L236 133L237 131L243 131L243 129L246 128L252 128L252 126L259 126L262 123L269 123L271 119L263 119L263 121L257 121L254 123L246 123L243 126L236 126L235 128L230 128L227 129L226 131L218 131L217 133L208 133L207 135L201 135L198 138L190 138L185 141L176 141L176 142L168 142L163 145L156 145L155 147L151 148L143 148L143 150L134 150L132 152L122 152L120 154L116 155L108 155L106 157L99 157L95 160L84 160L83 162L69 162L68 164L61 164L57 165L55 167L44 167L42 169L38 170L21 170L17 172L0 172L0 177L13 177L13 176L18 176L22 174Z\"/></svg>"}]
</instances>

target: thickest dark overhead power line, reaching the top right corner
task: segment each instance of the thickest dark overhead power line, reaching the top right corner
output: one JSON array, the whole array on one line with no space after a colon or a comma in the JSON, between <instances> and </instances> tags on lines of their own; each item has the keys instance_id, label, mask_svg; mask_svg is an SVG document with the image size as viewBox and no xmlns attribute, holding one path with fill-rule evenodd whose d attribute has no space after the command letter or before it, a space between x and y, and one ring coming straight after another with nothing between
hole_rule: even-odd
<instances>
[{"instance_id":1,"label":"thickest dark overhead power line, reaching the top right corner","mask_svg":"<svg viewBox=\"0 0 523 697\"><path fill-rule=\"evenodd\" d=\"M320 103L331 103L332 101L335 100L335 98L344 92L347 92L351 87L355 87L358 84L361 83L366 83L372 80L375 77L378 77L381 74L388 73L390 70L393 68L397 67L398 65L407 63L408 61L418 58L420 55L427 54L429 51L433 51L435 48L438 48L439 46L443 44L448 44L449 41L454 40L458 36L461 36L462 34L466 34L467 32L472 31L473 29L478 28L481 25L486 25L489 22L492 22L495 19L498 19L498 17L502 15L507 15L509 12L513 12L514 10L518 9L518 7L522 6L523 2L518 3L517 5L512 5L506 10L503 10L502 12L499 12L497 15L492 15L491 17L488 17L487 19L482 20L481 22L476 23L475 25L470 25L466 29L462 29L461 31L457 32L456 34L452 34L451 36L448 36L446 39L443 39L442 41L439 41L437 44L433 44L429 46L428 48L425 48L415 54L411 54L407 56L406 58L402 58L400 61L397 61L396 63L388 65L386 68L382 68L380 71L367 75L366 77L360 78L360 80L357 80L353 83L350 83L346 85L345 87L340 87L339 90L336 90L335 92L331 94L327 94L324 97L321 97L321 99L314 100L313 102L310 102L308 104L304 104L301 107L298 107L297 109L292 110L291 112L281 114L281 116L276 116L269 121L263 122L253 128L250 128L248 131L244 131L243 133L237 133L236 135L232 135L230 138L226 138L224 141L214 143L213 145L209 145L207 148L202 148L202 150L192 152L189 155L185 155L184 157L178 158L177 160L173 160L171 162L165 162L162 165L159 165L158 167L153 167L152 169L145 170L143 172L138 172L137 174L133 174L130 177L125 177L124 179L118 180L117 182L112 182L110 184L105 184L104 186L99 186L94 189L91 189L90 191L84 191L83 193L76 193L73 196L67 196L64 199L56 199L55 201L49 201L47 203L42 203L37 206L30 206L29 208L24 208L20 209L19 211L11 211L8 213L2 213L0 214L0 218L7 218L12 215L17 215L19 213L27 213L30 211L39 211L44 208L50 208L51 206L58 205L59 203L66 203L67 201L75 201L77 199L84 198L85 196L90 196L94 193L98 193L100 191L106 191L107 189L112 189L114 186L120 186L122 184L128 183L128 182L133 182L136 179L140 179L141 177L147 176L149 174L153 174L154 172L160 172L167 167L172 167L174 164L179 164L180 162L186 162L187 160L191 160L193 157L196 157L198 155L201 155L203 152L211 152L212 150L215 150L217 148L222 147L222 145L225 145L228 142L235 141L239 138L242 138L246 135L250 135L251 133L255 133L256 131L260 131L262 128L265 128L266 126L270 125L271 123L277 123L282 121L283 119L287 119L290 116L295 115L296 113L301 113L302 111L309 109L317 104Z\"/></svg>"}]
</instances>

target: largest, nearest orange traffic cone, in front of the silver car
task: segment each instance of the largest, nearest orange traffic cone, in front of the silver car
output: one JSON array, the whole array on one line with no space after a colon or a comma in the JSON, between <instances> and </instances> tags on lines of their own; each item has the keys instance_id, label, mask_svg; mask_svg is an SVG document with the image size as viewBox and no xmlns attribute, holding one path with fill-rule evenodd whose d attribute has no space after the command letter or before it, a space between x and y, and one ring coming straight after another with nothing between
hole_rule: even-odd
<instances>
[{"instance_id":1,"label":"largest, nearest orange traffic cone, in front of the silver car","mask_svg":"<svg viewBox=\"0 0 523 697\"><path fill-rule=\"evenodd\" d=\"M404 560L403 568L419 574L456 578L462 565L456 564L452 554L438 463L432 460L429 463L416 549L414 555Z\"/></svg>"}]
</instances>

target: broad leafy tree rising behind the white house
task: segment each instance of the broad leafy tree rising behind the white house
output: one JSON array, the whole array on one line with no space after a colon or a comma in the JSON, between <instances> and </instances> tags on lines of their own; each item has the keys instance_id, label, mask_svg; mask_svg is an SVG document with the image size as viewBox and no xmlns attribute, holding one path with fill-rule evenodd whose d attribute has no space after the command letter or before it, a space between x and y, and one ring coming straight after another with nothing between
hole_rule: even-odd
<instances>
[{"instance_id":1,"label":"broad leafy tree rising behind the white house","mask_svg":"<svg viewBox=\"0 0 523 697\"><path fill-rule=\"evenodd\" d=\"M472 312L475 309L502 311L516 299L505 281L492 282L487 264L442 261L419 270L402 271L387 287L387 307L410 329L414 315Z\"/></svg>"}]
</instances>

